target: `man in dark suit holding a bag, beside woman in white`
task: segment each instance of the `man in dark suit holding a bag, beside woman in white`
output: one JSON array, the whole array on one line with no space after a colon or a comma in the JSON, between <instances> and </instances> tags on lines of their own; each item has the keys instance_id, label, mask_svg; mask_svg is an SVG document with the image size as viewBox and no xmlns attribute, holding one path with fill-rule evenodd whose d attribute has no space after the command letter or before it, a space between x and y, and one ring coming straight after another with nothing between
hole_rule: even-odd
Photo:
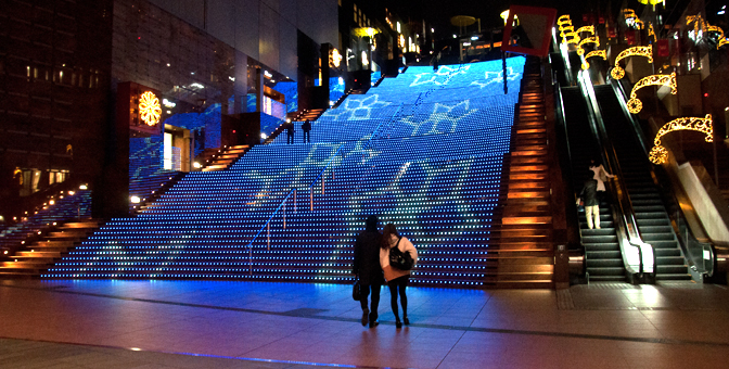
<instances>
[{"instance_id":1,"label":"man in dark suit holding a bag, beside woman in white","mask_svg":"<svg viewBox=\"0 0 729 369\"><path fill-rule=\"evenodd\" d=\"M362 305L362 326L367 326L368 319L370 328L376 327L378 306L380 305L380 288L382 287L382 267L380 266L380 243L382 233L378 231L378 216L370 215L367 218L367 227L359 233L355 242L355 263L351 271L359 277L361 285ZM372 291L372 305L367 308L367 296Z\"/></svg>"}]
</instances>

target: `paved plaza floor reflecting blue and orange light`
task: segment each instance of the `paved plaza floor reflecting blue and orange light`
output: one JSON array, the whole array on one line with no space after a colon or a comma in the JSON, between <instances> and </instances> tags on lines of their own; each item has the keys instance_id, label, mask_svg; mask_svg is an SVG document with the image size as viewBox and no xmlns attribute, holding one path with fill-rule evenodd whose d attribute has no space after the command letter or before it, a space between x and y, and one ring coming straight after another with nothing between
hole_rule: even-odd
<instances>
[{"instance_id":1,"label":"paved plaza floor reflecting blue and orange light","mask_svg":"<svg viewBox=\"0 0 729 369\"><path fill-rule=\"evenodd\" d=\"M347 285L1 281L3 368L724 367L729 291L409 288L411 326L361 327ZM73 344L73 345L67 345Z\"/></svg>"}]
</instances>

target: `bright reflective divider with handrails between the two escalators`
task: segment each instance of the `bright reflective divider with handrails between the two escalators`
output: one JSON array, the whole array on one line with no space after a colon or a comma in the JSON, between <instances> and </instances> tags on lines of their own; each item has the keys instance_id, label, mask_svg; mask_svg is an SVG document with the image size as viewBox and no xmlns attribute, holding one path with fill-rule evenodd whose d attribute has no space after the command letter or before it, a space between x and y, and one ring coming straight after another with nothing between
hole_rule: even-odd
<instances>
[{"instance_id":1,"label":"bright reflective divider with handrails between the two escalators","mask_svg":"<svg viewBox=\"0 0 729 369\"><path fill-rule=\"evenodd\" d=\"M635 280L636 277L643 281L645 279L649 282L654 281L656 271L655 250L651 244L643 242L640 237L632 203L627 194L624 182L625 177L617 162L615 148L608 136L602 120L602 112L594 96L589 72L580 71L578 73L578 85L589 102L588 111L591 113L589 114L589 120L591 129L602 148L603 162L608 166L608 170L617 176L617 180L606 184L611 188L610 195L614 198L613 204L617 206L617 209L613 211L614 218L621 220L616 224L616 230L618 231L618 236L623 234L623 237L618 237L618 242L623 251L626 270L630 273L629 278L631 282L638 282Z\"/></svg>"}]
</instances>

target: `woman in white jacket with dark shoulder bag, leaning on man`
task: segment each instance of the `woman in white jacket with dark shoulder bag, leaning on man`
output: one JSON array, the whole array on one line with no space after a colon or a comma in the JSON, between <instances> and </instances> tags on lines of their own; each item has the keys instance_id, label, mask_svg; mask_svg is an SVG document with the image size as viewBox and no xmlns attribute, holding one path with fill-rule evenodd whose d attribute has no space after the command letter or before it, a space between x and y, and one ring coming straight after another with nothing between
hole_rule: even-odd
<instances>
[{"instance_id":1,"label":"woman in white jacket with dark shoulder bag, leaning on man","mask_svg":"<svg viewBox=\"0 0 729 369\"><path fill-rule=\"evenodd\" d=\"M397 247L402 253L409 252L413 262L418 263L418 250L412 245L412 242L405 237L400 237L392 222L385 226L382 231L383 242L380 249L380 265L385 272L385 280L389 287L389 305L395 315L395 327L401 328L402 322L397 311L397 295L400 295L400 304L402 305L402 320L406 326L410 325L408 319L408 296L405 294L405 288L408 285L410 278L410 270L400 270L389 265L389 250ZM414 266L414 264L413 264ZM398 291L399 290L399 291Z\"/></svg>"}]
</instances>

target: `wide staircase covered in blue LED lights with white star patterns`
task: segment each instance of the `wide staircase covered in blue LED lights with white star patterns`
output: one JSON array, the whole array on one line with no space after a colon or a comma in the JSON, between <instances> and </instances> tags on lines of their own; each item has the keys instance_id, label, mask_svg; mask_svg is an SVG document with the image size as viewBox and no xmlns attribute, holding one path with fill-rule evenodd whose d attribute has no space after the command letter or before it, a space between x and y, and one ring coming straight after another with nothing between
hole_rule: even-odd
<instances>
[{"instance_id":1,"label":"wide staircase covered in blue LED lights with white star patterns","mask_svg":"<svg viewBox=\"0 0 729 369\"><path fill-rule=\"evenodd\" d=\"M524 59L507 66L509 94L501 61L385 78L312 122L312 143L279 137L227 170L191 173L44 277L346 282L354 237L378 214L419 247L413 284L478 287Z\"/></svg>"}]
</instances>

